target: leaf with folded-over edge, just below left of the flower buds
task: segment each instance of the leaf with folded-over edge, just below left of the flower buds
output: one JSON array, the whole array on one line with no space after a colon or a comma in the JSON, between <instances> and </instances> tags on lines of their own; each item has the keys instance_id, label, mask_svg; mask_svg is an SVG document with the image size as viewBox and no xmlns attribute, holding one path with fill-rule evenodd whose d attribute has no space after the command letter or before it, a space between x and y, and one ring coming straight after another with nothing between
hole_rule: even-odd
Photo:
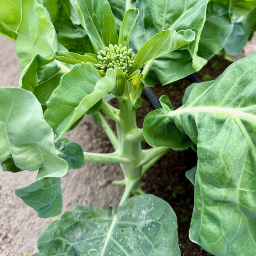
<instances>
[{"instance_id":1,"label":"leaf with folded-over edge, just below left of the flower buds","mask_svg":"<svg viewBox=\"0 0 256 256\"><path fill-rule=\"evenodd\" d=\"M88 75L90 74L90 76ZM77 86L79 84L79 87ZM101 79L92 64L76 64L66 73L47 102L44 118L61 137L116 84L116 70Z\"/></svg>"}]
</instances>

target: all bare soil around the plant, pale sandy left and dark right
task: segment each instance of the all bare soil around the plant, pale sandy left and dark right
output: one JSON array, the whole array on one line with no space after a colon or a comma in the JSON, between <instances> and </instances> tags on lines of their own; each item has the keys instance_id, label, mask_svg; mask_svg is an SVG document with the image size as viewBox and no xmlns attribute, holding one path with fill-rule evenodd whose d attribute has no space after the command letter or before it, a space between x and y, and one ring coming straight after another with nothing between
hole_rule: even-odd
<instances>
[{"instance_id":1,"label":"all bare soil around the plant, pale sandy left and dark right","mask_svg":"<svg viewBox=\"0 0 256 256\"><path fill-rule=\"evenodd\" d=\"M256 50L256 38L249 44L245 53ZM15 43L0 35L0 87L17 87L20 76L18 58L15 55ZM230 64L212 58L198 76L206 81L215 79ZM190 84L187 79L162 87L157 84L154 93L160 97L169 96L174 108L181 105L185 88ZM144 116L153 107L142 96L142 108L137 113L138 126L142 127ZM112 152L113 147L101 127L95 125L91 116L85 116L81 123L67 136L79 143L84 151ZM145 143L143 144L145 148ZM196 153L188 151L168 151L144 175L143 190L166 200L175 210L178 220L178 233L181 256L209 256L197 244L188 238L188 231L194 204L193 185L185 177L186 170L197 163ZM26 206L15 196L15 189L27 186L35 181L36 173L23 171L7 173L0 169L0 256L23 256L37 252L36 239L50 221L40 219L33 209ZM122 196L123 187L113 185L113 180L122 179L118 165L85 163L79 170L72 170L62 178L63 210L70 210L74 204L106 209L109 204L117 206Z\"/></svg>"}]
</instances>

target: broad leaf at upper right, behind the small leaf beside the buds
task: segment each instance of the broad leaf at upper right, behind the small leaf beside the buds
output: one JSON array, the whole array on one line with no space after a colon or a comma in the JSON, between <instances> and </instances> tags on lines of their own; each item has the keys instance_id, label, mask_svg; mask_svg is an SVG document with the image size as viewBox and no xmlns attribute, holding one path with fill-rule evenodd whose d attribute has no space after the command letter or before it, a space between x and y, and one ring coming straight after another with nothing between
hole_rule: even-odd
<instances>
[{"instance_id":1,"label":"broad leaf at upper right, behind the small leaf beside the buds","mask_svg":"<svg viewBox=\"0 0 256 256\"><path fill-rule=\"evenodd\" d=\"M137 3L141 15L131 36L134 52L142 47L149 39L148 36L152 37L161 29L192 29L195 32L195 40L182 50L178 49L153 61L144 77L149 86L154 86L159 80L163 85L168 84L199 70L224 46L230 35L232 26L229 9L225 9L223 3L226 1L152 0L150 5L148 1Z\"/></svg>"}]
</instances>

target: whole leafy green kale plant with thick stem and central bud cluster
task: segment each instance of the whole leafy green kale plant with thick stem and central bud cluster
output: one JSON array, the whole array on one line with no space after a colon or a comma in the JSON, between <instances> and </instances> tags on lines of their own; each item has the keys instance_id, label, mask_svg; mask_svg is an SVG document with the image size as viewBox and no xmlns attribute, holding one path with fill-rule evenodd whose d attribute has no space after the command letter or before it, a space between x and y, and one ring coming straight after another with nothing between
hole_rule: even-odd
<instances>
[{"instance_id":1,"label":"whole leafy green kale plant with thick stem and central bud cluster","mask_svg":"<svg viewBox=\"0 0 256 256\"><path fill-rule=\"evenodd\" d=\"M0 162L4 171L38 170L16 195L48 218L61 213L69 169L120 163L124 174L117 208L64 212L39 236L35 256L179 256L175 212L145 195L140 178L169 148L188 147L198 154L186 172L195 185L190 239L216 256L256 255L256 55L192 84L177 110L162 96L143 129L135 118L144 85L194 73L224 47L234 2L0 0L0 32L16 41L22 70L18 88L0 89ZM113 153L83 152L63 137L85 114ZM152 148L141 148L144 139Z\"/></svg>"}]
</instances>

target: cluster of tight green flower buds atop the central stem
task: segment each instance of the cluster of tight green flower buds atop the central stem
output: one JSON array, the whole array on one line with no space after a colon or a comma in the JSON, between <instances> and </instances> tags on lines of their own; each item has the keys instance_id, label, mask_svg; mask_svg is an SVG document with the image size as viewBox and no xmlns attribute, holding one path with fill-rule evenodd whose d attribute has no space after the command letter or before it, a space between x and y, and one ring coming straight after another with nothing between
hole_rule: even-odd
<instances>
[{"instance_id":1,"label":"cluster of tight green flower buds atop the central stem","mask_svg":"<svg viewBox=\"0 0 256 256\"><path fill-rule=\"evenodd\" d=\"M135 54L132 49L127 50L126 46L122 47L122 44L119 46L110 44L105 50L100 50L97 57L101 71L118 67L126 74L131 70Z\"/></svg>"}]
</instances>

